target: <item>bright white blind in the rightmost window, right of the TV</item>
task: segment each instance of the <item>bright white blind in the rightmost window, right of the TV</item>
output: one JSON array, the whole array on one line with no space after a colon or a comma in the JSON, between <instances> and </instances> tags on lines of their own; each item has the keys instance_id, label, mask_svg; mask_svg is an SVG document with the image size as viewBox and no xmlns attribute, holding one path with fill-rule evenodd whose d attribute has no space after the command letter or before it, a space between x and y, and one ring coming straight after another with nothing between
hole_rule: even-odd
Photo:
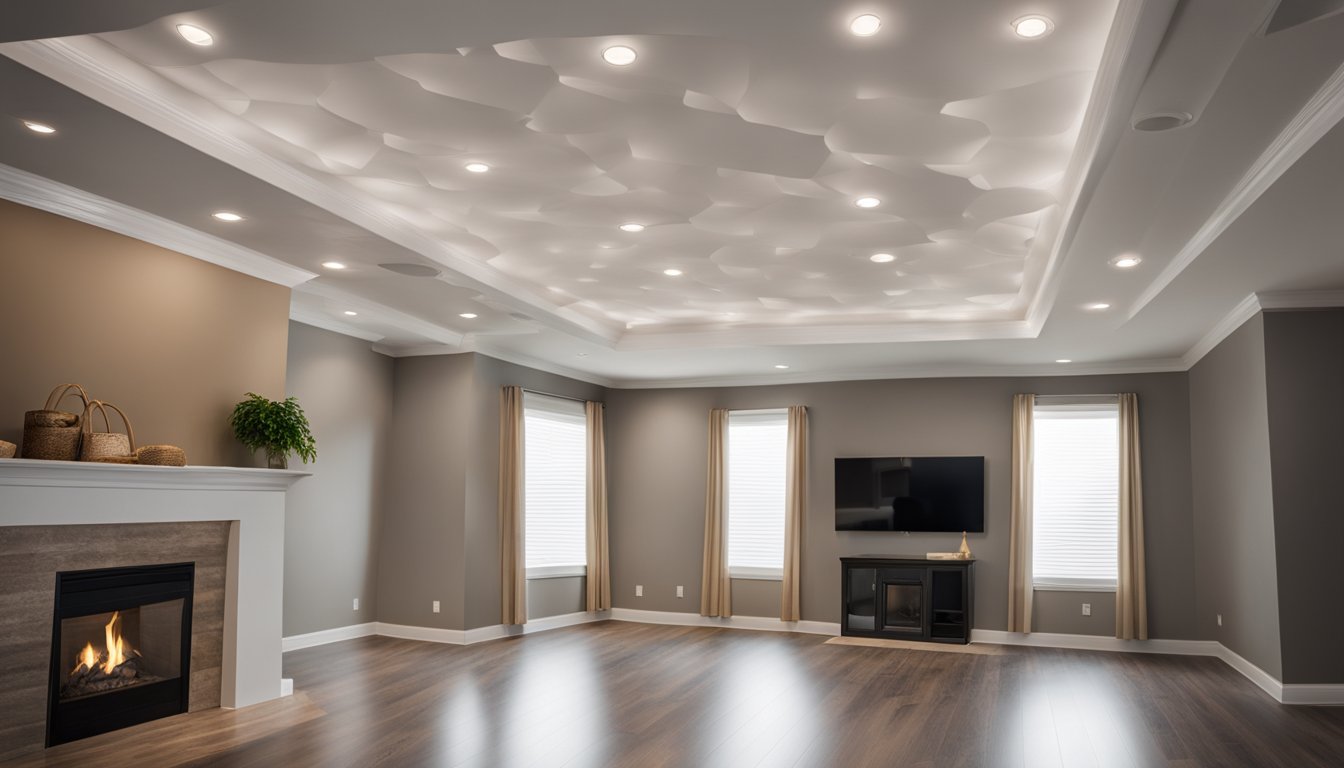
<instances>
[{"instance_id":1,"label":"bright white blind in the rightmost window, right of the TV","mask_svg":"<svg viewBox=\"0 0 1344 768\"><path fill-rule=\"evenodd\" d=\"M1032 582L1116 589L1120 409L1038 402L1034 421Z\"/></svg>"}]
</instances>

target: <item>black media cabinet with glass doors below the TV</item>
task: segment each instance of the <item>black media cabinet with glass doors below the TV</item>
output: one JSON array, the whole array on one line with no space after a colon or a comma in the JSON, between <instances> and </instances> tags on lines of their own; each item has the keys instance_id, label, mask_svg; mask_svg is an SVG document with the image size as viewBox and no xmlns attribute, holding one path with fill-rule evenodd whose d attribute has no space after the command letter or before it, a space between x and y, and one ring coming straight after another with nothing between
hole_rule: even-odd
<instances>
[{"instance_id":1,"label":"black media cabinet with glass doors below the TV","mask_svg":"<svg viewBox=\"0 0 1344 768\"><path fill-rule=\"evenodd\" d=\"M840 558L840 633L969 643L974 560Z\"/></svg>"}]
</instances>

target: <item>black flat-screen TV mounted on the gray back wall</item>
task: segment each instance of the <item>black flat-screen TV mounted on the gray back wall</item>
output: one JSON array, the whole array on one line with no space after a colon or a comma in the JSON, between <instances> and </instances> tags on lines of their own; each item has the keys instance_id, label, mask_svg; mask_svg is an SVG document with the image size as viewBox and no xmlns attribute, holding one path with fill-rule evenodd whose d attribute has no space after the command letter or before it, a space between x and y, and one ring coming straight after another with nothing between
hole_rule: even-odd
<instances>
[{"instance_id":1,"label":"black flat-screen TV mounted on the gray back wall","mask_svg":"<svg viewBox=\"0 0 1344 768\"><path fill-rule=\"evenodd\" d=\"M985 457L836 459L836 530L984 533Z\"/></svg>"}]
</instances>

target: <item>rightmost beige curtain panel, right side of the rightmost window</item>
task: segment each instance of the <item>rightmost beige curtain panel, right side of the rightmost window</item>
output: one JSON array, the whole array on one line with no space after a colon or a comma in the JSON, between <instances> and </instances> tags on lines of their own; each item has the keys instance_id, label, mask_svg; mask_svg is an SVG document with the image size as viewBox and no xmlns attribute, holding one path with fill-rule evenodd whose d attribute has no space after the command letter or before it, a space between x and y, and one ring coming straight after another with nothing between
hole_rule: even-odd
<instances>
[{"instance_id":1,"label":"rightmost beige curtain panel, right side of the rightmost window","mask_svg":"<svg viewBox=\"0 0 1344 768\"><path fill-rule=\"evenodd\" d=\"M1138 455L1138 395L1120 395L1120 580L1116 585L1116 636L1148 639L1148 586L1144 580L1144 482Z\"/></svg>"}]
</instances>

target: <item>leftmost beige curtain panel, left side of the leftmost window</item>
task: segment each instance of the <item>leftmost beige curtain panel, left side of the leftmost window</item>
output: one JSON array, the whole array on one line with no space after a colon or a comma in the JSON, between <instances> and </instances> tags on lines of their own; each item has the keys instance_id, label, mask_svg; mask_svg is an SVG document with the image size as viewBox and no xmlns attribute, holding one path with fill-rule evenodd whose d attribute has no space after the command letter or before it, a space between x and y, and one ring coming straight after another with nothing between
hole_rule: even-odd
<instances>
[{"instance_id":1,"label":"leftmost beige curtain panel, left side of the leftmost window","mask_svg":"<svg viewBox=\"0 0 1344 768\"><path fill-rule=\"evenodd\" d=\"M527 623L523 538L523 387L500 391L500 564L504 624Z\"/></svg>"}]
</instances>

